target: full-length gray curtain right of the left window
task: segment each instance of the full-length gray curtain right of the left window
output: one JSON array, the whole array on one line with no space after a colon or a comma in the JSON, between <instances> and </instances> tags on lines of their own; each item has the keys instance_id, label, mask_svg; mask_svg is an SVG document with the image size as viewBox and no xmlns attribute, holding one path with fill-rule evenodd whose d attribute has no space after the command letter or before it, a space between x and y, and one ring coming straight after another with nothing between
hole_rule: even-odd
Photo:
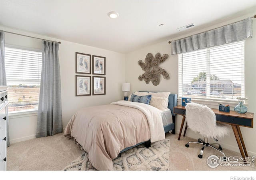
<instances>
[{"instance_id":1,"label":"full-length gray curtain right of the left window","mask_svg":"<svg viewBox=\"0 0 256 180\"><path fill-rule=\"evenodd\" d=\"M59 43L42 40L42 74L36 138L63 132Z\"/></svg>"}]
</instances>

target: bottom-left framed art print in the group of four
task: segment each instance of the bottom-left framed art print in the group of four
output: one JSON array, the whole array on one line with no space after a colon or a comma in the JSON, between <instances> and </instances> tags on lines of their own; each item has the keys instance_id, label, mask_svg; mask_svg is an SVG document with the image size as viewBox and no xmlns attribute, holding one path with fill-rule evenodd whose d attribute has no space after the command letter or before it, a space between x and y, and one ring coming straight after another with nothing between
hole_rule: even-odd
<instances>
[{"instance_id":1,"label":"bottom-left framed art print in the group of four","mask_svg":"<svg viewBox=\"0 0 256 180\"><path fill-rule=\"evenodd\" d=\"M76 96L91 95L91 76L76 76Z\"/></svg>"}]
</instances>

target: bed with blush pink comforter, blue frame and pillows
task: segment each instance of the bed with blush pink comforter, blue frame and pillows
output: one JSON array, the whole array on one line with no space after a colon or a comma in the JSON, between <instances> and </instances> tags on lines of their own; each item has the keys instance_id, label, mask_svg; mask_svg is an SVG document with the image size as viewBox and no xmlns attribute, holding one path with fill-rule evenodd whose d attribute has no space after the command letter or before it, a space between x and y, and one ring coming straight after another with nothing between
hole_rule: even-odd
<instances>
[{"instance_id":1,"label":"bed with blush pink comforter, blue frame and pillows","mask_svg":"<svg viewBox=\"0 0 256 180\"><path fill-rule=\"evenodd\" d=\"M169 92L166 97L166 93L134 92L128 101L81 108L68 122L64 136L73 138L88 152L97 170L112 170L112 160L121 152L142 143L150 146L165 139L167 132L175 134L173 107L177 105L177 94ZM158 97L159 94L164 94L164 98ZM154 106L142 103L145 96ZM162 100L166 108L159 109L162 107L159 103L153 104Z\"/></svg>"}]
</instances>

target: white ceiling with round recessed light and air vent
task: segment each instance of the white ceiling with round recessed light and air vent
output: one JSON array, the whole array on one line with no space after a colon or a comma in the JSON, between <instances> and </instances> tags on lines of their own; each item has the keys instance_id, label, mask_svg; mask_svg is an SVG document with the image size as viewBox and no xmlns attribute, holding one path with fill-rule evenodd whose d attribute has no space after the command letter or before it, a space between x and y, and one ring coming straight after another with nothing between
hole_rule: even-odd
<instances>
[{"instance_id":1,"label":"white ceiling with round recessed light and air vent","mask_svg":"<svg viewBox=\"0 0 256 180\"><path fill-rule=\"evenodd\" d=\"M255 12L256 0L0 0L0 26L128 53Z\"/></svg>"}]
</instances>

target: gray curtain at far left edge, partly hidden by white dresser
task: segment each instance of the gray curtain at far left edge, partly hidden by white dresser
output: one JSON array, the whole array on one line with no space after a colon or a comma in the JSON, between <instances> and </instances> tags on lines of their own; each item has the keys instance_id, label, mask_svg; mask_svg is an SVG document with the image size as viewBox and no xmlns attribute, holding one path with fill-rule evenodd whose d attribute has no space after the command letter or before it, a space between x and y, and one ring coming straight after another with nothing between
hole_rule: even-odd
<instances>
[{"instance_id":1,"label":"gray curtain at far left edge, partly hidden by white dresser","mask_svg":"<svg viewBox=\"0 0 256 180\"><path fill-rule=\"evenodd\" d=\"M0 31L0 86L6 86L6 72L5 72L5 59L4 59L4 31ZM6 119L6 126L7 126L7 147L10 146L10 139L9 139L9 116L7 113Z\"/></svg>"}]
</instances>

